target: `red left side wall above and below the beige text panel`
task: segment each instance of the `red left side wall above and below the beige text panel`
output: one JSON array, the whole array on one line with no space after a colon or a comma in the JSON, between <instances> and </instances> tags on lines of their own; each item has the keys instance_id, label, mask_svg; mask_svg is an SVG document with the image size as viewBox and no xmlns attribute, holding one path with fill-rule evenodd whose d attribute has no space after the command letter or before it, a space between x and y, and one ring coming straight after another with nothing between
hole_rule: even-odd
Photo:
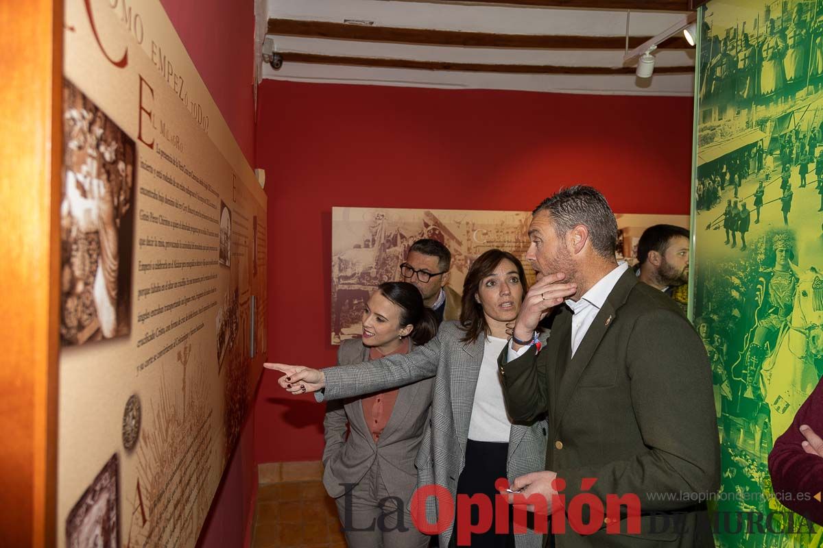
<instances>
[{"instance_id":1,"label":"red left side wall above and below the beige text panel","mask_svg":"<svg viewBox=\"0 0 823 548\"><path fill-rule=\"evenodd\" d=\"M160 0L249 164L254 167L253 0ZM254 415L249 412L198 547L249 546L257 495Z\"/></svg>"}]
</instances>

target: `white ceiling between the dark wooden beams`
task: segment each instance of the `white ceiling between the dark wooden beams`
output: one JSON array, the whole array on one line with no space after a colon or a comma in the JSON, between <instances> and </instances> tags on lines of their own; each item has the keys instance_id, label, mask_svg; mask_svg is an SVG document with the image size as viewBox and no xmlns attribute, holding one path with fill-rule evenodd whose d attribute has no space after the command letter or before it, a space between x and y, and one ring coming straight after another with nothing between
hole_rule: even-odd
<instances>
[{"instance_id":1,"label":"white ceiling between the dark wooden beams","mask_svg":"<svg viewBox=\"0 0 823 548\"><path fill-rule=\"evenodd\" d=\"M260 0L264 1L264 0ZM649 2L653 4L653 2ZM444 4L403 0L268 0L268 18L301 21L374 21L374 26L460 30L514 35L653 36L680 21L677 12L572 10L506 7L488 4ZM621 67L623 50L548 50L463 48L390 44L345 39L270 35L277 50L330 56L395 58L571 67ZM693 49L661 49L656 67L694 66ZM409 85L440 88L532 90L586 94L691 95L694 75L549 75L499 72L430 71L402 68L322 65L286 61L279 71L263 63L264 78L365 85Z\"/></svg>"}]
</instances>

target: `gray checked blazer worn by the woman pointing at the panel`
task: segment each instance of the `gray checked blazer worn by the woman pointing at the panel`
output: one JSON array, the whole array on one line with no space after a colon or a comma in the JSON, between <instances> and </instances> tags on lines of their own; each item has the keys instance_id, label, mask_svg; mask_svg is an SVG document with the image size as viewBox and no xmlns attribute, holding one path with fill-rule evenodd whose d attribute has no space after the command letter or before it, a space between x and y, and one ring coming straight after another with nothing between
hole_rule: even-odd
<instances>
[{"instance_id":1,"label":"gray checked blazer worn by the woman pointing at the panel","mask_svg":"<svg viewBox=\"0 0 823 548\"><path fill-rule=\"evenodd\" d=\"M435 377L430 420L415 460L417 486L444 486L452 500L465 463L468 426L484 347L482 338L473 343L462 343L461 338L463 330L458 323L445 321L437 336L414 352L324 369L326 387L315 393L318 401L351 398ZM545 470L546 427L545 420L512 425L506 463L509 481L528 472ZM434 497L426 500L425 513L429 523L436 522L438 508ZM454 515L449 518L449 527L439 535L439 546L449 546L453 521ZM518 548L542 546L542 536L534 532L517 535L515 540Z\"/></svg>"}]
</instances>

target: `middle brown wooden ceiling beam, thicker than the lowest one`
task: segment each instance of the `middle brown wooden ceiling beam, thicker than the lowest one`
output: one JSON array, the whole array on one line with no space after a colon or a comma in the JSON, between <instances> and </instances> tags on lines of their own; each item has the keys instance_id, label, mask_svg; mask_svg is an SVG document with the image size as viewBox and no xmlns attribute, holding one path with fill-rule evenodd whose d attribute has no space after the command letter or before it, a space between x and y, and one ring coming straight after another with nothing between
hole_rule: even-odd
<instances>
[{"instance_id":1,"label":"middle brown wooden ceiling beam, thicker than the lowest one","mask_svg":"<svg viewBox=\"0 0 823 548\"><path fill-rule=\"evenodd\" d=\"M267 34L464 48L625 49L625 36L503 35L490 32L406 29L276 18L268 20ZM629 48L636 48L650 38L650 36L630 36ZM690 46L686 43L686 39L678 34L658 44L658 48L690 49Z\"/></svg>"}]
</instances>

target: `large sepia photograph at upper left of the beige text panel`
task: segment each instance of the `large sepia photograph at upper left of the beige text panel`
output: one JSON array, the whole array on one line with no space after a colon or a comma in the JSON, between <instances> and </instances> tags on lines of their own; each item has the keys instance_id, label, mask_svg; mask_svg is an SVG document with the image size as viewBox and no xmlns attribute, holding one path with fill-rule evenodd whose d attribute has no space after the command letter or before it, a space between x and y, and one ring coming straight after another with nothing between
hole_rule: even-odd
<instances>
[{"instance_id":1,"label":"large sepia photograph at upper left of the beige text panel","mask_svg":"<svg viewBox=\"0 0 823 548\"><path fill-rule=\"evenodd\" d=\"M63 81L60 340L131 331L134 140L72 82Z\"/></svg>"}]
</instances>

